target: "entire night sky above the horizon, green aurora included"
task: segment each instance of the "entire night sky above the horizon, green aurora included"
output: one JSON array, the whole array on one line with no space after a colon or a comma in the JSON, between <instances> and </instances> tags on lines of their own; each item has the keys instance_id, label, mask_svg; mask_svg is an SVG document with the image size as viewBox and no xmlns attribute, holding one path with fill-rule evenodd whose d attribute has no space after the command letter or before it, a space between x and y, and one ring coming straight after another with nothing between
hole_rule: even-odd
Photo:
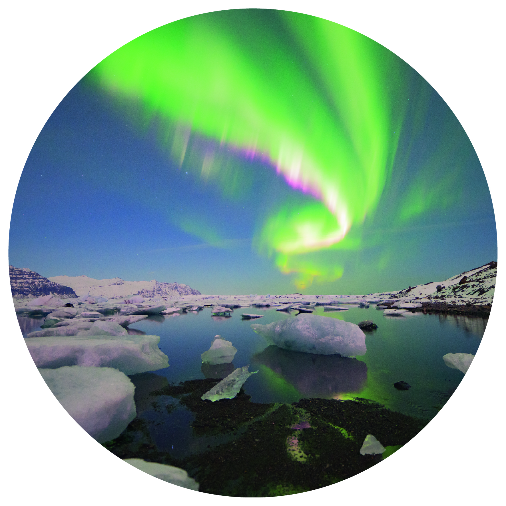
<instances>
[{"instance_id":1,"label":"entire night sky above the horizon, green aurora included","mask_svg":"<svg viewBox=\"0 0 506 506\"><path fill-rule=\"evenodd\" d=\"M234 292L346 293L496 258L481 166L439 95L371 39L286 11L194 16L120 48L55 110L20 189L11 263L46 275L64 272L21 248L37 249L34 195L82 224L64 231L68 275L210 293L220 260ZM148 258L153 272L134 267Z\"/></svg>"}]
</instances>

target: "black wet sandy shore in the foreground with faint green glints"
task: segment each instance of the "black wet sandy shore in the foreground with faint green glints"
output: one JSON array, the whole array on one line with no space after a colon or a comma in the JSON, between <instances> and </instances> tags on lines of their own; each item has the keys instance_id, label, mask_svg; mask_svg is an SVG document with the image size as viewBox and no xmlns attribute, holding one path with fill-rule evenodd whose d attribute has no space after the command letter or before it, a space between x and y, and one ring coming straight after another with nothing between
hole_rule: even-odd
<instances>
[{"instance_id":1,"label":"black wet sandy shore in the foreground with faint green glints","mask_svg":"<svg viewBox=\"0 0 506 506\"><path fill-rule=\"evenodd\" d=\"M136 376L142 375L131 376L134 384ZM202 401L200 396L219 381L195 379L158 386L151 392L146 388L149 383L139 391L136 387L136 405L150 404L153 410L138 408L138 417L104 446L120 458L142 458L182 468L199 483L200 492L266 497L313 490L354 476L382 460L382 455L360 454L368 434L383 446L397 449L429 423L360 398L262 404L250 402L241 389L234 399ZM192 437L211 444L192 446L191 452L175 458L157 447L152 430L156 425L158 433L163 431L171 413L185 408L193 415L189 422ZM158 419L152 419L153 412L159 413ZM301 421L311 427L291 429ZM302 455L304 461L294 459L294 453L288 451L290 436L298 438L301 453L295 454Z\"/></svg>"}]
</instances>

